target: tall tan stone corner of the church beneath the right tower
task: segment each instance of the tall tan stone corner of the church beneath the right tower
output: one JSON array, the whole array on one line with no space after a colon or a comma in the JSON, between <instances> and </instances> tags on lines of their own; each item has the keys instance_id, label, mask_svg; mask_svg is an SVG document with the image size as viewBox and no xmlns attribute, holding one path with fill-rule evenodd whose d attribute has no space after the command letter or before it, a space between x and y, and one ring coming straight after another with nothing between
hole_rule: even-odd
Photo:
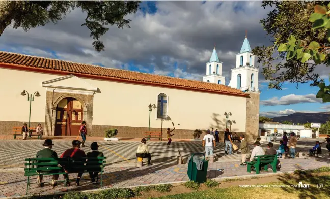
<instances>
[{"instance_id":1,"label":"tall tan stone corner of the church beneath the right tower","mask_svg":"<svg viewBox=\"0 0 330 199\"><path fill-rule=\"evenodd\" d=\"M246 133L244 134L248 141L255 141L259 135L259 103L260 92L248 91L248 100L246 100Z\"/></svg>"}]
</instances>

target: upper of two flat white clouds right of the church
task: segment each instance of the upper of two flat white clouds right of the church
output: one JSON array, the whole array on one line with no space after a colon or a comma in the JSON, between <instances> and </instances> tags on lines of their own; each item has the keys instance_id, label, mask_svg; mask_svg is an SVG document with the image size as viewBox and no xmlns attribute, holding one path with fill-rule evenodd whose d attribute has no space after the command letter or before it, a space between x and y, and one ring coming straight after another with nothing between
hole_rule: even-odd
<instances>
[{"instance_id":1,"label":"upper of two flat white clouds right of the church","mask_svg":"<svg viewBox=\"0 0 330 199\"><path fill-rule=\"evenodd\" d=\"M321 103L322 100L316 98L315 94L307 94L307 95L289 94L281 98L273 97L268 100L262 100L260 101L260 104L264 106L276 106L276 105L293 105L299 103L313 103L313 102Z\"/></svg>"}]
</instances>

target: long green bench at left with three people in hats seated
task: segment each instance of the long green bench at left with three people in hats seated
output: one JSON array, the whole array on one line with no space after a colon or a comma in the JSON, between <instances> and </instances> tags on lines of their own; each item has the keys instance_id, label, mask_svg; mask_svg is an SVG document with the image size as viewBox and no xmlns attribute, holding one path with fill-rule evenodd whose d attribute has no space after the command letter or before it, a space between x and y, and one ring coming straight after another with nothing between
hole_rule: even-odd
<instances>
[{"instance_id":1,"label":"long green bench at left with three people in hats seated","mask_svg":"<svg viewBox=\"0 0 330 199\"><path fill-rule=\"evenodd\" d=\"M54 175L54 174L72 174L72 173L88 173L88 172L100 172L100 178L97 175L97 180L101 179L102 187L102 175L104 169L104 163L106 157L89 157L74 160L72 158L26 158L24 168L24 176L28 176L28 185L26 187L26 195L30 189L31 176L38 175ZM88 162L88 164L87 164ZM59 176L60 178L61 176ZM65 182L68 191L68 182L70 181L69 175L64 180L58 180L58 182ZM73 181L73 180L72 180ZM36 182L38 183L38 182ZM45 183L45 182L44 182Z\"/></svg>"}]
</instances>

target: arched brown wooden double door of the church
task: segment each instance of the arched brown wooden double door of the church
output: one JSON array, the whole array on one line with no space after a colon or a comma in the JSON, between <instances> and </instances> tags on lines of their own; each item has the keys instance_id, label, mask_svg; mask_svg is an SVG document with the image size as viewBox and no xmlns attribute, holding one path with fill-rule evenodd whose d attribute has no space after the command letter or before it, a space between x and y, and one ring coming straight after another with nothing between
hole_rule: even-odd
<instances>
[{"instance_id":1,"label":"arched brown wooden double door of the church","mask_svg":"<svg viewBox=\"0 0 330 199\"><path fill-rule=\"evenodd\" d=\"M56 136L77 136L84 119L81 103L75 98L62 99L56 108Z\"/></svg>"}]
</instances>

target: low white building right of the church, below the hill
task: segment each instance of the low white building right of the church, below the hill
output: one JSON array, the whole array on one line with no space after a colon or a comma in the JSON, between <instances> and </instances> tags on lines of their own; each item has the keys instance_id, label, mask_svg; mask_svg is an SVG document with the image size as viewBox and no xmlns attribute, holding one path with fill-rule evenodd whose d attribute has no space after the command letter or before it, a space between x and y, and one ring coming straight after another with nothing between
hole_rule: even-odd
<instances>
[{"instance_id":1,"label":"low white building right of the church, below the hill","mask_svg":"<svg viewBox=\"0 0 330 199\"><path fill-rule=\"evenodd\" d=\"M281 124L279 122L259 123L259 136L267 136L274 132L294 132L296 135L300 135L301 130L304 130L303 125Z\"/></svg>"}]
</instances>

